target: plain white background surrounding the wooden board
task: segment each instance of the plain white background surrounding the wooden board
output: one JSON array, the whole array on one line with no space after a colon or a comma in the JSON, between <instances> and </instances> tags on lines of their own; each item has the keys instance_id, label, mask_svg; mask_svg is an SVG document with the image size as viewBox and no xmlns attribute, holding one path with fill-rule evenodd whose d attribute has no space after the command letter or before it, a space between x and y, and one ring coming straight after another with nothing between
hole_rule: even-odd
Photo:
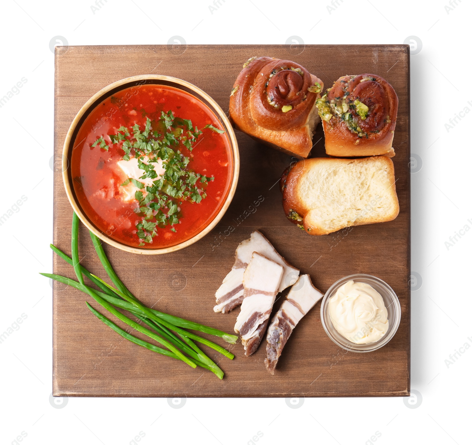
<instances>
[{"instance_id":1,"label":"plain white background surrounding the wooden board","mask_svg":"<svg viewBox=\"0 0 472 445\"><path fill-rule=\"evenodd\" d=\"M1 2L0 97L27 79L0 108L0 214L27 198L0 226L0 332L21 314L27 317L0 344L1 443L20 443L20 436L26 445L127 445L137 444L141 432L143 445L245 445L256 443L251 440L259 432L262 445L351 445L372 444L377 432L380 445L470 444L472 348L462 349L452 364L445 361L464 343L472 346L472 231L445 244L465 225L472 227L472 114L445 126L465 107L472 109L470 2L219 2L213 11L210 0L102 0L95 11L92 0ZM293 35L307 44L411 40L417 52L411 56L413 169L421 164L412 173L412 269L422 280L412 292L411 387L421 397L305 399L292 407L285 399L187 399L179 409L167 399L50 403L51 286L38 272L52 269L51 39L167 44L175 35L187 44L285 43Z\"/></svg>"}]
</instances>

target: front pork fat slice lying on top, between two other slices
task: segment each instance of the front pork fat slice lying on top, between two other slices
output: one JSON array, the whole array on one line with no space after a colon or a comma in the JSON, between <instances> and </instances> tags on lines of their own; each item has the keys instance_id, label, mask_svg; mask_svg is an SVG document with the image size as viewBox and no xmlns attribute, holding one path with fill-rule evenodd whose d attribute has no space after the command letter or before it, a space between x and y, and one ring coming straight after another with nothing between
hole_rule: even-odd
<instances>
[{"instance_id":1,"label":"front pork fat slice lying on top, between two other slices","mask_svg":"<svg viewBox=\"0 0 472 445\"><path fill-rule=\"evenodd\" d=\"M280 264L253 252L243 275L244 299L235 325L246 355L261 343L283 274Z\"/></svg>"}]
</instances>

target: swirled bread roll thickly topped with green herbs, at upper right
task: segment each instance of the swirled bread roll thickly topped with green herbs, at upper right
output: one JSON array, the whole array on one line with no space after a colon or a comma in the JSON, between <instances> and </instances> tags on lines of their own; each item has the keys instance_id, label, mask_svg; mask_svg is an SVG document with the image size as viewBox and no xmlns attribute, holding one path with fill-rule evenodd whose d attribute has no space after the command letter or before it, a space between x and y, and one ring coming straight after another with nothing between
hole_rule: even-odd
<instances>
[{"instance_id":1,"label":"swirled bread roll thickly topped with green herbs, at upper right","mask_svg":"<svg viewBox=\"0 0 472 445\"><path fill-rule=\"evenodd\" d=\"M323 121L326 154L395 156L392 141L398 97L382 77L340 77L316 105Z\"/></svg>"}]
</instances>

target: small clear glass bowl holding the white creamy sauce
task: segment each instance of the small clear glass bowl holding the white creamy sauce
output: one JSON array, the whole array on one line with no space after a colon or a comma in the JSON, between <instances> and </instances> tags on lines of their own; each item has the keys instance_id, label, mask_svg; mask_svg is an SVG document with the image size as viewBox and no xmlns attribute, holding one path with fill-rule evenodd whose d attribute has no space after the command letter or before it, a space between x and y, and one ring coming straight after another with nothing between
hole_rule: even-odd
<instances>
[{"instance_id":1,"label":"small clear glass bowl holding the white creamy sauce","mask_svg":"<svg viewBox=\"0 0 472 445\"><path fill-rule=\"evenodd\" d=\"M372 342L368 344L356 344L349 341L347 338L339 334L336 328L334 327L331 318L329 317L328 302L331 296L335 295L339 287L347 283L349 280L353 280L354 283L365 283L371 285L383 298L385 307L387 308L387 318L388 318L388 329L385 335L380 338L377 342ZM321 324L328 334L329 338L347 351L352 351L354 353L368 353L376 351L377 349L385 346L395 335L398 325L400 324L400 302L396 296L393 289L380 278L374 277L373 275L367 274L354 274L347 277L337 280L329 289L328 292L324 295L321 302Z\"/></svg>"}]
</instances>

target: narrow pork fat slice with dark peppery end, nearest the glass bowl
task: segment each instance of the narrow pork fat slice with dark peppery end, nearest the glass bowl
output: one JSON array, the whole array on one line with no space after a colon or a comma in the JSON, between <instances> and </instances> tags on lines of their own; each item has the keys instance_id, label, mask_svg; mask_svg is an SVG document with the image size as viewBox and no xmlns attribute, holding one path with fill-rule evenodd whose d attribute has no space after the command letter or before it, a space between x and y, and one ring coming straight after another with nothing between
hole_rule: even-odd
<instances>
[{"instance_id":1,"label":"narrow pork fat slice with dark peppery end, nearest the glass bowl","mask_svg":"<svg viewBox=\"0 0 472 445\"><path fill-rule=\"evenodd\" d=\"M267 331L267 358L264 363L270 374L274 374L282 349L295 326L322 296L312 285L309 275L301 275L290 289Z\"/></svg>"}]
</instances>

